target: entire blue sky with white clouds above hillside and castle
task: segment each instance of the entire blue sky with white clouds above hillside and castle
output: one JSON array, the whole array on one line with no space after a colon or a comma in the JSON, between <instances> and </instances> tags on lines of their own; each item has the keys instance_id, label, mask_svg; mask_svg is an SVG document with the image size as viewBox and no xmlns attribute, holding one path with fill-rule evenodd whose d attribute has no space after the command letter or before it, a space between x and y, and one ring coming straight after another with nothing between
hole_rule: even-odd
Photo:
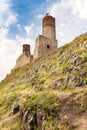
<instances>
[{"instance_id":1,"label":"entire blue sky with white clouds above hillside and castle","mask_svg":"<svg viewBox=\"0 0 87 130\"><path fill-rule=\"evenodd\" d=\"M47 12L56 18L58 47L87 32L87 0L0 0L0 80L15 66L23 44L33 53Z\"/></svg>"}]
</instances>

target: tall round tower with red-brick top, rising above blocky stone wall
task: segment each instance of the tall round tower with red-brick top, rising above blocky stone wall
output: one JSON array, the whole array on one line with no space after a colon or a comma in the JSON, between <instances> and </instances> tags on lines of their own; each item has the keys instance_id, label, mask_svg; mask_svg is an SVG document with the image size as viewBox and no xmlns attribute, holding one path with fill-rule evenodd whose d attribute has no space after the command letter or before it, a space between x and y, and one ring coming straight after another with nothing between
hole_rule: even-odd
<instances>
[{"instance_id":1,"label":"tall round tower with red-brick top, rising above blocky stone wall","mask_svg":"<svg viewBox=\"0 0 87 130\"><path fill-rule=\"evenodd\" d=\"M55 18L47 15L42 21L42 35L47 38L56 39Z\"/></svg>"}]
</instances>

